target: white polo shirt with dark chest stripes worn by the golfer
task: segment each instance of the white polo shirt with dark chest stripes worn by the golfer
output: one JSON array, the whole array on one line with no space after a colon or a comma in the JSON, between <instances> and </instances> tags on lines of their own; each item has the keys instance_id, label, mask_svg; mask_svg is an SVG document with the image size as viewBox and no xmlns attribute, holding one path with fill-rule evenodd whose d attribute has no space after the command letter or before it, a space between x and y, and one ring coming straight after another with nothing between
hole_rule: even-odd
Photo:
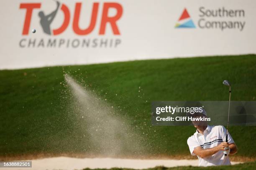
<instances>
[{"instance_id":1,"label":"white polo shirt with dark chest stripes worn by the golfer","mask_svg":"<svg viewBox=\"0 0 256 170\"><path fill-rule=\"evenodd\" d=\"M207 128L202 135L198 131L194 133L191 137L187 139L187 145L189 146L189 150L191 155L195 155L193 153L194 149L198 146L201 146L203 149L213 148L219 145L226 140L227 130L224 126L210 126L207 125ZM228 133L228 143L234 143L234 140ZM228 155L225 156L223 150L218 151L212 156L208 156L206 158L200 158L198 166L212 166L212 165L231 165Z\"/></svg>"}]
</instances>

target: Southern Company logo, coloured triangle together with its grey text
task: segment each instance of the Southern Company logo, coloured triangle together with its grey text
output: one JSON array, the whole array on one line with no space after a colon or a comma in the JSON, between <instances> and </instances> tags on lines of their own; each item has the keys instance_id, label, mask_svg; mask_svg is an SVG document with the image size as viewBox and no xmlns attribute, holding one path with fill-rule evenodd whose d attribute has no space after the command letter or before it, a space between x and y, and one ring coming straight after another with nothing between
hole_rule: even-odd
<instances>
[{"instance_id":1,"label":"Southern Company logo, coloured triangle together with its grey text","mask_svg":"<svg viewBox=\"0 0 256 170\"><path fill-rule=\"evenodd\" d=\"M185 8L180 16L175 28L200 28L200 29L218 29L218 30L240 30L245 28L245 10L228 9L219 7L210 9L207 7L199 7L197 12L193 11L193 19L198 17L197 26L195 26L187 9ZM195 15L196 13L197 15Z\"/></svg>"}]
</instances>

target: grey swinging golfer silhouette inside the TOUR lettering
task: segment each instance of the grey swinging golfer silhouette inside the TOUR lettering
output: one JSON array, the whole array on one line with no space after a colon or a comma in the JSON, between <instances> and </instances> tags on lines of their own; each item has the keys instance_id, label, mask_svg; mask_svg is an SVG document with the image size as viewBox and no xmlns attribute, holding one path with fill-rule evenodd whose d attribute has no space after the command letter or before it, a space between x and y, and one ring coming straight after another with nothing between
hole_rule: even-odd
<instances>
[{"instance_id":1,"label":"grey swinging golfer silhouette inside the TOUR lettering","mask_svg":"<svg viewBox=\"0 0 256 170\"><path fill-rule=\"evenodd\" d=\"M38 13L38 15L40 17L40 24L44 30L44 33L49 34L49 35L51 35L50 25L51 25L52 21L54 20L56 14L58 12L59 5L60 5L60 3L58 1L56 1L56 3L57 3L56 10L54 10L50 14L45 15L43 11L40 11Z\"/></svg>"}]
</instances>

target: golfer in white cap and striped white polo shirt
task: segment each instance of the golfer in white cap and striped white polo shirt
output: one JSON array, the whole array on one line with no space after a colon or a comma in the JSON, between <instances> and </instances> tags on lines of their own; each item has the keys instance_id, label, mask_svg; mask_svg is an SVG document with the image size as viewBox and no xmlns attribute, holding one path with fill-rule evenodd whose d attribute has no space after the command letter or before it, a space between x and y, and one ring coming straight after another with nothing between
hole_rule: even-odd
<instances>
[{"instance_id":1,"label":"golfer in white cap and striped white polo shirt","mask_svg":"<svg viewBox=\"0 0 256 170\"><path fill-rule=\"evenodd\" d=\"M192 116L207 117L207 113L203 109L202 112ZM223 126L207 125L206 121L192 121L192 123L197 130L187 139L187 145L191 155L197 155L199 166L231 165L228 155L234 155L237 147L230 134L228 134L228 142L224 142L227 130Z\"/></svg>"}]
</instances>

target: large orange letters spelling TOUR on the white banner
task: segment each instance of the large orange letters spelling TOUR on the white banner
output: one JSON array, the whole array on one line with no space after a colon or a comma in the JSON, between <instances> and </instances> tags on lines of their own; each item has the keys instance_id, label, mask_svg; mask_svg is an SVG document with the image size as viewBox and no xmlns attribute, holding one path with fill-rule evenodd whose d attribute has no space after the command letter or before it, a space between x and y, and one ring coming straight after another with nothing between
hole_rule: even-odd
<instances>
[{"instance_id":1,"label":"large orange letters spelling TOUR on the white banner","mask_svg":"<svg viewBox=\"0 0 256 170\"><path fill-rule=\"evenodd\" d=\"M70 21L69 8L65 4L61 5L60 2L58 2L58 1L56 1L56 4L57 4L56 9L50 14L44 13L44 11L40 11L38 13L39 17L41 18L40 19L41 27L43 28L44 33L46 33L48 35L59 35L62 32L64 32L69 25L69 21ZM82 6L81 2L77 2L75 5L72 28L74 30L74 33L77 35L88 35L95 28L96 21L97 21L97 15L98 15L98 11L99 11L99 3L98 2L93 3L90 24L87 28L84 28L84 29L79 27L81 6ZM20 9L26 9L26 15L25 15L25 20L24 20L22 35L28 35L33 10L38 9L40 7L41 7L41 3L20 3ZM59 7L60 7L60 9L59 9ZM112 17L108 16L110 8L114 8L117 11L115 16L112 16ZM63 23L59 28L52 30L50 27L51 22L54 20L56 13L59 10L61 10L62 13L64 13ZM119 3L115 3L115 2L105 2L103 4L103 9L102 9L102 17L101 17L101 22L100 22L99 35L105 34L107 23L110 24L114 35L120 35L120 31L117 26L117 21L121 18L122 14L123 14L122 5L120 5Z\"/></svg>"}]
</instances>

